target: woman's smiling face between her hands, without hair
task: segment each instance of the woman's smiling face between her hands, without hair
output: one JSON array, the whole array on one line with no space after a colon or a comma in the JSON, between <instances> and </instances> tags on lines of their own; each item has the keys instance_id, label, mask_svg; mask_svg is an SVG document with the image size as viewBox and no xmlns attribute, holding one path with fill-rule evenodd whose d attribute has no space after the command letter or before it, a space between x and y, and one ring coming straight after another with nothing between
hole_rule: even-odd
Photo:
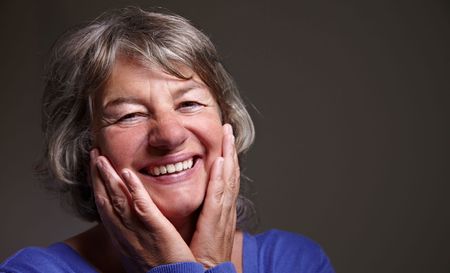
<instances>
[{"instance_id":1,"label":"woman's smiling face between her hands, without hair","mask_svg":"<svg viewBox=\"0 0 450 273\"><path fill-rule=\"evenodd\" d=\"M95 143L117 172L134 171L172 222L202 204L222 154L219 107L198 75L179 79L118 59L94 99Z\"/></svg>"}]
</instances>

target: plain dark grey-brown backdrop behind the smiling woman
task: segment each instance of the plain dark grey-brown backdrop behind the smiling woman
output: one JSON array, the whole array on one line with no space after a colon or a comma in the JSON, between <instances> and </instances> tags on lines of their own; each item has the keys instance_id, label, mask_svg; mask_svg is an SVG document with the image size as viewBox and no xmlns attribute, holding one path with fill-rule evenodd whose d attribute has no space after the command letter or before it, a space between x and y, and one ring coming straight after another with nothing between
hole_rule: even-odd
<instances>
[{"instance_id":1,"label":"plain dark grey-brown backdrop behind the smiling woman","mask_svg":"<svg viewBox=\"0 0 450 273\"><path fill-rule=\"evenodd\" d=\"M89 226L32 175L42 68L69 26L130 4L218 46L256 124L261 230L313 238L338 272L450 272L450 9L426 0L2 1L0 259Z\"/></svg>"}]
</instances>

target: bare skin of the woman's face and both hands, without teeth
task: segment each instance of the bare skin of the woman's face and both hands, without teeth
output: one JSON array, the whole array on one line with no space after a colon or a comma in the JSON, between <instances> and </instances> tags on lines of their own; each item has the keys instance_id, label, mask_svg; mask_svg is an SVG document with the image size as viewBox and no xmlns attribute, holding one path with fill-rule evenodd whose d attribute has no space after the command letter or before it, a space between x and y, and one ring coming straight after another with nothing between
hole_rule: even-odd
<instances>
[{"instance_id":1,"label":"bare skin of the woman's face and both hands, without teeth","mask_svg":"<svg viewBox=\"0 0 450 273\"><path fill-rule=\"evenodd\" d=\"M208 87L189 69L183 73L190 79L119 58L94 98L92 185L103 228L128 272L186 261L210 268L232 256L240 270L232 128L222 125ZM150 174L189 158L191 169Z\"/></svg>"}]
</instances>

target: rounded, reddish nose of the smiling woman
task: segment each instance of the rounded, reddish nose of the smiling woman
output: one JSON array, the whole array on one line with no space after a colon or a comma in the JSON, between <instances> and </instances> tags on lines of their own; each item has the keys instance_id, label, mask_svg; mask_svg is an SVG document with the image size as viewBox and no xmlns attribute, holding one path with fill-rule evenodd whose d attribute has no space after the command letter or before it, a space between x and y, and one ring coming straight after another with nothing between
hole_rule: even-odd
<instances>
[{"instance_id":1,"label":"rounded, reddish nose of the smiling woman","mask_svg":"<svg viewBox=\"0 0 450 273\"><path fill-rule=\"evenodd\" d=\"M180 147L188 138L183 124L171 116L163 116L154 120L149 130L148 143L153 149L172 151Z\"/></svg>"}]
</instances>

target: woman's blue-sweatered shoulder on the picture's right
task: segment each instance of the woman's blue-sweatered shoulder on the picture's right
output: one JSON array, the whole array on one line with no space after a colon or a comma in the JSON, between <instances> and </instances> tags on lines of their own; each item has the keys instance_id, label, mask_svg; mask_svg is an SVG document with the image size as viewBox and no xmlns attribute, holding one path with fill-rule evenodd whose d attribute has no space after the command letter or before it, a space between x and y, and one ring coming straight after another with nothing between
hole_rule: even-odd
<instances>
[{"instance_id":1,"label":"woman's blue-sweatered shoulder on the picture's right","mask_svg":"<svg viewBox=\"0 0 450 273\"><path fill-rule=\"evenodd\" d=\"M277 229L254 237L260 264L274 272L334 272L321 246L308 237Z\"/></svg>"}]
</instances>

